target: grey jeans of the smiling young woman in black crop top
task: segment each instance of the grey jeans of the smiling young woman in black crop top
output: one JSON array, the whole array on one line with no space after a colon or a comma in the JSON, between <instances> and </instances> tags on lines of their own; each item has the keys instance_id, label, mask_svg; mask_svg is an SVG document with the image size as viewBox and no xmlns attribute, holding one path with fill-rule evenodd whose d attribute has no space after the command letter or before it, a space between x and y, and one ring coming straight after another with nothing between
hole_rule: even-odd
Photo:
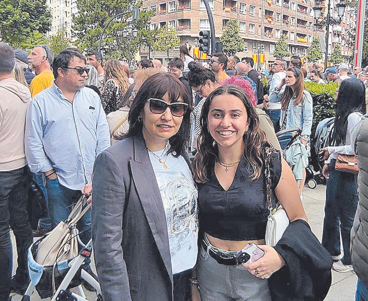
<instances>
[{"instance_id":1,"label":"grey jeans of the smiling young woman in black crop top","mask_svg":"<svg viewBox=\"0 0 368 301\"><path fill-rule=\"evenodd\" d=\"M267 279L259 279L242 265L220 265L203 247L197 259L197 277L202 300L271 300Z\"/></svg>"}]
</instances>

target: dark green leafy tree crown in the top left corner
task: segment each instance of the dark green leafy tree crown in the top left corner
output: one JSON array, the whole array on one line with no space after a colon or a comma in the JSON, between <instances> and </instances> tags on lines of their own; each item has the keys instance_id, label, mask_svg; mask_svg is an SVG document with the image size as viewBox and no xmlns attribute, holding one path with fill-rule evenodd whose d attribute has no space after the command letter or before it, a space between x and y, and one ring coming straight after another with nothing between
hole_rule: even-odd
<instances>
[{"instance_id":1,"label":"dark green leafy tree crown in the top left corner","mask_svg":"<svg viewBox=\"0 0 368 301\"><path fill-rule=\"evenodd\" d=\"M50 30L51 13L46 0L1 0L0 31L3 42L22 47L24 40ZM38 32L38 33L35 33Z\"/></svg>"}]
</instances>

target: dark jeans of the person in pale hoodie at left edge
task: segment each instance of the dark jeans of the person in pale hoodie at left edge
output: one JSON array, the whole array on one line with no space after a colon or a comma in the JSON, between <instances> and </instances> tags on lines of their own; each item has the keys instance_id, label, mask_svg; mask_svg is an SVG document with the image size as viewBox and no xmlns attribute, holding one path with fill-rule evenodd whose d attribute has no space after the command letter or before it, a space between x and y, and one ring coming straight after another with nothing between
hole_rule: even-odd
<instances>
[{"instance_id":1,"label":"dark jeans of the person in pale hoodie at left edge","mask_svg":"<svg viewBox=\"0 0 368 301\"><path fill-rule=\"evenodd\" d=\"M16 274L28 280L27 252L33 242L28 220L28 187L31 182L28 166L11 171L0 171L0 300L7 300L13 269L13 248L9 226L17 244L18 267Z\"/></svg>"}]
</instances>

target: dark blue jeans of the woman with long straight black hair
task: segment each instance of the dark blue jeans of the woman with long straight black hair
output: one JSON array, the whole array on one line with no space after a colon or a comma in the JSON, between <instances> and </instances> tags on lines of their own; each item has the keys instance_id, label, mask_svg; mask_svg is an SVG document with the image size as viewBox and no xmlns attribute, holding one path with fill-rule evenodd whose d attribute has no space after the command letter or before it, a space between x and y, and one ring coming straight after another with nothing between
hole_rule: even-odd
<instances>
[{"instance_id":1,"label":"dark blue jeans of the woman with long straight black hair","mask_svg":"<svg viewBox=\"0 0 368 301\"><path fill-rule=\"evenodd\" d=\"M341 262L351 265L350 231L358 206L357 176L335 170L336 160L330 164L327 180L325 219L323 220L322 245L331 256L339 256L340 231L344 256Z\"/></svg>"}]
</instances>

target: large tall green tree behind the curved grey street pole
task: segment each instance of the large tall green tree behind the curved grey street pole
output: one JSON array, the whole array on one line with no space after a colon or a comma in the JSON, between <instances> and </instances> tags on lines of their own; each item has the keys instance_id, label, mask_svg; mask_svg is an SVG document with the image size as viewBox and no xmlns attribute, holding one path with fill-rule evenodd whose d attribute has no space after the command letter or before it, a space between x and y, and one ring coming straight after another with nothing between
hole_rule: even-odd
<instances>
[{"instance_id":1,"label":"large tall green tree behind the curved grey street pole","mask_svg":"<svg viewBox=\"0 0 368 301\"><path fill-rule=\"evenodd\" d=\"M136 53L142 39L152 35L147 24L153 14L152 11L140 11L138 20L132 20L132 13L136 1L131 0L78 0L78 14L73 15L72 35L81 50L96 50L98 41L105 24L114 16L127 12L110 22L103 35L101 49L106 57L129 57ZM124 38L122 31L132 26L138 30L137 38Z\"/></svg>"}]
</instances>

